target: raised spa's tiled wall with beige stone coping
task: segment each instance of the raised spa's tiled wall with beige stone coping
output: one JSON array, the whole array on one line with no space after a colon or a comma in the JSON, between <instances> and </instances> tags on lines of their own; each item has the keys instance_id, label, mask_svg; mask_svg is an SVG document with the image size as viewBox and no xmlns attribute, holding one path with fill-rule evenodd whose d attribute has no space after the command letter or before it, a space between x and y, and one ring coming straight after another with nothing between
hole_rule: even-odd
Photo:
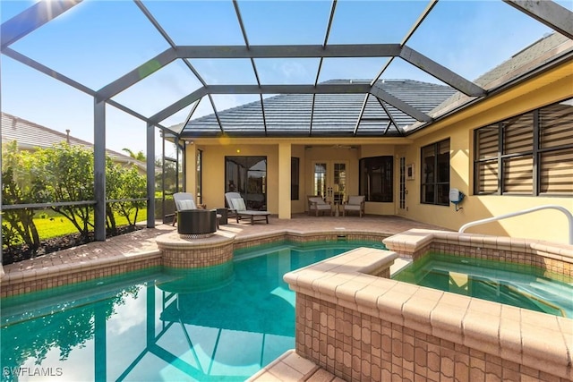
<instances>
[{"instance_id":1,"label":"raised spa's tiled wall with beige stone coping","mask_svg":"<svg viewBox=\"0 0 573 382\"><path fill-rule=\"evenodd\" d=\"M415 255L432 242L448 249L460 242L495 250L513 244L573 263L573 246L542 241L432 230L384 240L389 250ZM573 319L373 276L368 261L334 268L345 256L351 260L352 251L284 276L296 293L296 352L330 373L346 380L573 377Z\"/></svg>"}]
</instances>

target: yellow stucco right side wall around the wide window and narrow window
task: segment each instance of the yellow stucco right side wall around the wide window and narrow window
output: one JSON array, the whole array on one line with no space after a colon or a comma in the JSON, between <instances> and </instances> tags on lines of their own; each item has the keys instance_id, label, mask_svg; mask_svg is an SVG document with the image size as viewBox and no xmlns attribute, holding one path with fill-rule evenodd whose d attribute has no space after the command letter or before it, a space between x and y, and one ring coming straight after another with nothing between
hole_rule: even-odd
<instances>
[{"instance_id":1,"label":"yellow stucco right side wall around the wide window and narrow window","mask_svg":"<svg viewBox=\"0 0 573 382\"><path fill-rule=\"evenodd\" d=\"M406 163L415 164L415 180L406 182L407 205L409 206L406 217L458 230L461 225L468 222L542 205L558 205L573 212L573 197L571 196L474 195L473 182L475 129L573 97L571 86L573 75L571 73L573 73L573 64L563 65L559 70L544 74L541 79L526 81L511 91L490 98L466 111L464 115L452 118L451 122L446 120L444 123L436 123L436 127L410 136L414 142L405 150ZM458 212L455 211L453 204L445 207L420 203L420 150L425 145L448 138L450 140L450 188L458 188L466 194L466 198L459 205L463 209ZM478 225L469 228L467 232L569 242L568 220L564 214L555 210L543 210L495 223Z\"/></svg>"}]
</instances>

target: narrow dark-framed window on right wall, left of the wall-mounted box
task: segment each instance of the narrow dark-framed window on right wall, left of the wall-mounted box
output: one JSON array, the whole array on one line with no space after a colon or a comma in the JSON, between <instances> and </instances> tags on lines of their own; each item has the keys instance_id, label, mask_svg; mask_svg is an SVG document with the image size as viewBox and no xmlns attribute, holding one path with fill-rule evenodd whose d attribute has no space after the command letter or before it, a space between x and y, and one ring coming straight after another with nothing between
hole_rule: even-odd
<instances>
[{"instance_id":1,"label":"narrow dark-framed window on right wall, left of the wall-mounted box","mask_svg":"<svg viewBox=\"0 0 573 382\"><path fill-rule=\"evenodd\" d=\"M422 148L420 202L449 205L449 139Z\"/></svg>"}]
</instances>

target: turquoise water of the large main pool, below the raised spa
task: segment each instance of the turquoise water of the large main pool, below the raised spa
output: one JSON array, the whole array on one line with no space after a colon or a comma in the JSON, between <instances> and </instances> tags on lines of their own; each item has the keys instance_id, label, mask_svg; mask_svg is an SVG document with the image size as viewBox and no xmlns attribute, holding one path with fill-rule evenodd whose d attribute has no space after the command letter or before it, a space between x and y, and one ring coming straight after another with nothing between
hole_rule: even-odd
<instances>
[{"instance_id":1,"label":"turquoise water of the large main pool, below the raised spa","mask_svg":"<svg viewBox=\"0 0 573 382\"><path fill-rule=\"evenodd\" d=\"M372 242L280 243L1 302L3 381L235 381L295 346L286 272ZM264 256L262 256L264 255Z\"/></svg>"}]
</instances>

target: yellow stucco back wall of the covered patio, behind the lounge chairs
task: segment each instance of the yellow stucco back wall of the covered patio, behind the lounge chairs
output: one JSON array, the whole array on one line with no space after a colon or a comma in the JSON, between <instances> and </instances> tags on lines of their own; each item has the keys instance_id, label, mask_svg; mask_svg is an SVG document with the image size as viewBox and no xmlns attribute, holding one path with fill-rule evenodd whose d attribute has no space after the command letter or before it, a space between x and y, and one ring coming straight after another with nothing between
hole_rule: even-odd
<instances>
[{"instance_id":1,"label":"yellow stucco back wall of the covered patio, behind the lounge chairs","mask_svg":"<svg viewBox=\"0 0 573 382\"><path fill-rule=\"evenodd\" d=\"M195 139L186 145L186 178L187 191L195 193L197 150L202 151L202 203L207 208L224 206L225 200L225 157L227 156L266 156L267 157L267 209L278 214L278 144L288 142L291 145L291 157L300 158L299 199L291 201L291 213L304 213L307 208L307 196L312 195L313 163L316 161L347 163L347 194L359 193L358 161L362 157L377 157L394 155L395 143L404 144L409 140L393 139L392 144L370 143L362 140L356 148L348 148L345 140L249 140L249 139ZM381 141L381 140L377 140ZM366 142L366 143L364 143ZM340 148L335 146L340 145ZM238 150L238 151L237 151ZM398 167L397 170L398 171ZM290 176L290 175L289 175ZM398 194L395 195L395 199ZM394 203L367 203L366 213L378 215L394 215Z\"/></svg>"}]
</instances>

